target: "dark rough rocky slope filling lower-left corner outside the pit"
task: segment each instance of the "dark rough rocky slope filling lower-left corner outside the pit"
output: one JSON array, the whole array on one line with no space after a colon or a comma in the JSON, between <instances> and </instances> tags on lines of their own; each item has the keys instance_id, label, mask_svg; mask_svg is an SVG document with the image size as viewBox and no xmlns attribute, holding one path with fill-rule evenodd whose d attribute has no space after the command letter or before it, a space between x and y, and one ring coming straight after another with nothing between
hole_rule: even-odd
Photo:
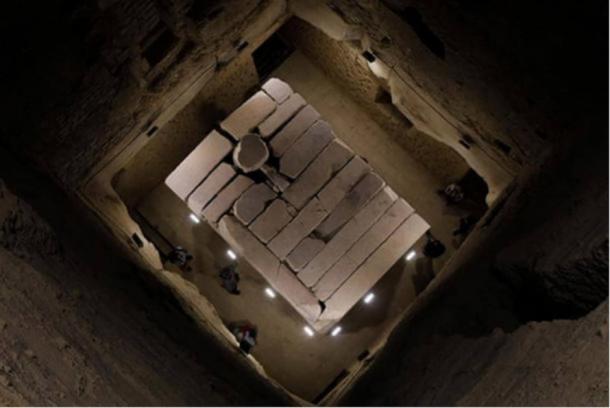
<instances>
[{"instance_id":1,"label":"dark rough rocky slope filling lower-left corner outside the pit","mask_svg":"<svg viewBox=\"0 0 610 408\"><path fill-rule=\"evenodd\" d=\"M166 287L114 256L49 180L19 177L19 189L43 195L34 209L0 181L0 404L290 403Z\"/></svg>"}]
</instances>

